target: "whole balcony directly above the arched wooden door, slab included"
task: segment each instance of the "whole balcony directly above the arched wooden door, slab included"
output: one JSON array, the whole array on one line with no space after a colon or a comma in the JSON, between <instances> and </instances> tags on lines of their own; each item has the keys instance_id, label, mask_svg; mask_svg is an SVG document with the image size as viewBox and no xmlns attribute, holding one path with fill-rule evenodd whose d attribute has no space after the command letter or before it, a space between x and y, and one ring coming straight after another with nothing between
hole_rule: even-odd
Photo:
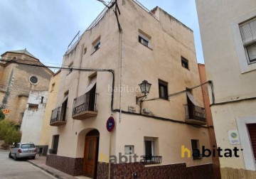
<instances>
[{"instance_id":1,"label":"whole balcony directly above the arched wooden door, slab included","mask_svg":"<svg viewBox=\"0 0 256 179\"><path fill-rule=\"evenodd\" d=\"M97 116L97 93L87 92L74 99L73 119L83 120Z\"/></svg>"}]
</instances>

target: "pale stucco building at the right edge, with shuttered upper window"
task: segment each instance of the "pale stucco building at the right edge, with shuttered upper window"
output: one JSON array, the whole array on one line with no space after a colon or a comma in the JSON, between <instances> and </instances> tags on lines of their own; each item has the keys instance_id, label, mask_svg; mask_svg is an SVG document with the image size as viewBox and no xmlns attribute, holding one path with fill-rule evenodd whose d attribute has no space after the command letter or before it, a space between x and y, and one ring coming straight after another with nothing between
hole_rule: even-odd
<instances>
[{"instance_id":1,"label":"pale stucco building at the right edge, with shuttered upper window","mask_svg":"<svg viewBox=\"0 0 256 179\"><path fill-rule=\"evenodd\" d=\"M256 178L256 1L196 0L222 178ZM241 151L242 149L242 151Z\"/></svg>"}]
</instances>

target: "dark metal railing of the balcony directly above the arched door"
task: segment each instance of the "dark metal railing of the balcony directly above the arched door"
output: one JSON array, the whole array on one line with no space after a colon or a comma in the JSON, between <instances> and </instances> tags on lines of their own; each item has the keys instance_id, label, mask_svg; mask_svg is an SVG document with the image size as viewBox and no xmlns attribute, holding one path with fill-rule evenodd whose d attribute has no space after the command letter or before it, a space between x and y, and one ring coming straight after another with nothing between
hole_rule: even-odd
<instances>
[{"instance_id":1,"label":"dark metal railing of the balcony directly above the arched door","mask_svg":"<svg viewBox=\"0 0 256 179\"><path fill-rule=\"evenodd\" d=\"M73 116L81 112L97 112L97 93L87 92L74 99Z\"/></svg>"}]
</instances>

